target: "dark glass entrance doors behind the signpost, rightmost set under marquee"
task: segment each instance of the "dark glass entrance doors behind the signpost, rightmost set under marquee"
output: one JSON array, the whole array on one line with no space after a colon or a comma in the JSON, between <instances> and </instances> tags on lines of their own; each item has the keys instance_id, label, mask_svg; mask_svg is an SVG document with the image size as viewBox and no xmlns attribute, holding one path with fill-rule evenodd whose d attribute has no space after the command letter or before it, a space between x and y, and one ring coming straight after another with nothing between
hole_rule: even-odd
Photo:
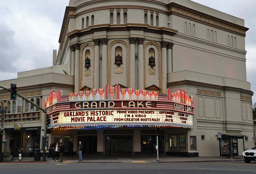
<instances>
[{"instance_id":1,"label":"dark glass entrance doors behind the signpost, rightmost set under marquee","mask_svg":"<svg viewBox=\"0 0 256 174\"><path fill-rule=\"evenodd\" d=\"M164 154L164 136L158 135L158 153ZM141 135L141 154L156 154L156 135Z\"/></svg>"}]
</instances>

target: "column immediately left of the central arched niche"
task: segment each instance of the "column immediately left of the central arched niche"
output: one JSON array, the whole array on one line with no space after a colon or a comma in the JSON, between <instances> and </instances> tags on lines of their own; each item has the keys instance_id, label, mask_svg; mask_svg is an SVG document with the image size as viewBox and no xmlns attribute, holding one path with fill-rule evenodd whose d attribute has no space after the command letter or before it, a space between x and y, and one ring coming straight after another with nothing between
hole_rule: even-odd
<instances>
[{"instance_id":1,"label":"column immediately left of the central arched niche","mask_svg":"<svg viewBox=\"0 0 256 174\"><path fill-rule=\"evenodd\" d=\"M103 38L100 39L101 43L102 43L102 87L103 88L106 84L107 84L107 80L108 80L108 39L107 38Z\"/></svg>"}]
</instances>

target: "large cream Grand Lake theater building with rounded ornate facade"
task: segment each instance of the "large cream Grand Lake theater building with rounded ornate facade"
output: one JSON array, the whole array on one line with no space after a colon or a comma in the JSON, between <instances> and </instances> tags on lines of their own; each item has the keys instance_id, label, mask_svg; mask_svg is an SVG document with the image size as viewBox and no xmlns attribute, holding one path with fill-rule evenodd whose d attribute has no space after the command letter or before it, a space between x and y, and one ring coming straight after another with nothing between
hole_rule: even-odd
<instances>
[{"instance_id":1,"label":"large cream Grand Lake theater building with rounded ornate facade","mask_svg":"<svg viewBox=\"0 0 256 174\"><path fill-rule=\"evenodd\" d=\"M158 138L159 154L219 156L221 144L241 156L254 145L248 29L189 0L70 0L53 67L1 84L39 91L28 98L47 108L49 142L71 139L76 151L82 141L83 154L156 154ZM44 115L25 120L26 107L6 116L42 129Z\"/></svg>"}]
</instances>

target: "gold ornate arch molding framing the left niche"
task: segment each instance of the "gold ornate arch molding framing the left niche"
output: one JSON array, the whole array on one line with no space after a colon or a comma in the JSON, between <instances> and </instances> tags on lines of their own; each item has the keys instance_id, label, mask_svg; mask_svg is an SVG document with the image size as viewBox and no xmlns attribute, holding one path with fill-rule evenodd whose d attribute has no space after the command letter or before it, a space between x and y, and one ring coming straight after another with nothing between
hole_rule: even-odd
<instances>
[{"instance_id":1,"label":"gold ornate arch molding framing the left niche","mask_svg":"<svg viewBox=\"0 0 256 174\"><path fill-rule=\"evenodd\" d=\"M94 68L95 68L95 48L94 48L94 46L92 45L92 43L86 42L85 44L83 44L83 45L81 46L80 55L79 55L79 89L82 88L83 49L84 49L86 46L92 47L92 56L93 56L93 68L92 68L92 71L93 71L93 74L94 74ZM93 76L93 88L94 88L94 82L95 82L95 78L94 78L94 76Z\"/></svg>"}]
</instances>

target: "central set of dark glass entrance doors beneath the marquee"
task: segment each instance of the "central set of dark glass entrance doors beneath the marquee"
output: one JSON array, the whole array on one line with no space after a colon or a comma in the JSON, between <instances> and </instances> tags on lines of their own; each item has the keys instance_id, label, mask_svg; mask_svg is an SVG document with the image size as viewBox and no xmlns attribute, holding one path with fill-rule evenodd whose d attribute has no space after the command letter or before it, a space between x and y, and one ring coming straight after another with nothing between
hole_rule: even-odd
<instances>
[{"instance_id":1,"label":"central set of dark glass entrance doors beneath the marquee","mask_svg":"<svg viewBox=\"0 0 256 174\"><path fill-rule=\"evenodd\" d=\"M132 135L105 135L105 154L132 154Z\"/></svg>"}]
</instances>

